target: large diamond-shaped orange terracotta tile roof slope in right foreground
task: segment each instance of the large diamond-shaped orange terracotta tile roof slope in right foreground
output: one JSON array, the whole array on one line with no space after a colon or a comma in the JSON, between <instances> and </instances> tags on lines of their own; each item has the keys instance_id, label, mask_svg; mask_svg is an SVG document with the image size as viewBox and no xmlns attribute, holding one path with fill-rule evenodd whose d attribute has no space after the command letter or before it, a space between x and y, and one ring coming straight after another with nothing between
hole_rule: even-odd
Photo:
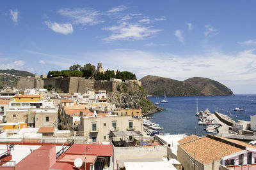
<instances>
[{"instance_id":1,"label":"large diamond-shaped orange terracotta tile roof slope in right foreground","mask_svg":"<svg viewBox=\"0 0 256 170\"><path fill-rule=\"evenodd\" d=\"M184 143L180 148L192 158L195 154L195 159L202 164L209 164L212 160L220 160L221 157L242 151L240 148L207 137Z\"/></svg>"}]
</instances>

